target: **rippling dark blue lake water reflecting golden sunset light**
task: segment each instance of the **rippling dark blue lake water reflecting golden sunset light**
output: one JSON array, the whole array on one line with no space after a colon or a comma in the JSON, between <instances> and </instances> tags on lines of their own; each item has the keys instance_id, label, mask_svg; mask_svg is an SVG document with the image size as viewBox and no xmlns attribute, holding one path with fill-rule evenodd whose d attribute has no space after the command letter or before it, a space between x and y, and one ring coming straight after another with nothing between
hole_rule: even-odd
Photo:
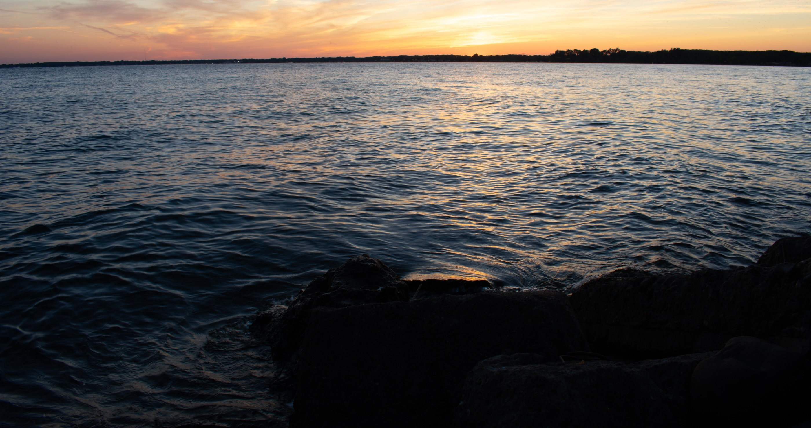
<instances>
[{"instance_id":1,"label":"rippling dark blue lake water reflecting golden sunset light","mask_svg":"<svg viewBox=\"0 0 811 428\"><path fill-rule=\"evenodd\" d=\"M561 288L811 233L809 68L2 69L0 95L2 426L279 422L245 325L359 253Z\"/></svg>"}]
</instances>

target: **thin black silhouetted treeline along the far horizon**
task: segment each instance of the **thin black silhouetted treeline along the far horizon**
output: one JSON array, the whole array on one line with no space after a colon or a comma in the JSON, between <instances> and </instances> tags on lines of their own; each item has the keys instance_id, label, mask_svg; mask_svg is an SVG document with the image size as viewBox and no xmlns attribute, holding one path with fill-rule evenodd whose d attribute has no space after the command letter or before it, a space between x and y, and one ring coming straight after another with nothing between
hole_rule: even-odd
<instances>
[{"instance_id":1,"label":"thin black silhouetted treeline along the far horizon","mask_svg":"<svg viewBox=\"0 0 811 428\"><path fill-rule=\"evenodd\" d=\"M260 64L268 62L613 62L630 64L717 64L729 66L809 66L811 53L791 50L663 49L655 52L614 49L567 49L549 55L397 55L396 57L314 57L268 59L199 59L170 61L71 61L2 64L8 67L157 66L169 64Z\"/></svg>"}]
</instances>

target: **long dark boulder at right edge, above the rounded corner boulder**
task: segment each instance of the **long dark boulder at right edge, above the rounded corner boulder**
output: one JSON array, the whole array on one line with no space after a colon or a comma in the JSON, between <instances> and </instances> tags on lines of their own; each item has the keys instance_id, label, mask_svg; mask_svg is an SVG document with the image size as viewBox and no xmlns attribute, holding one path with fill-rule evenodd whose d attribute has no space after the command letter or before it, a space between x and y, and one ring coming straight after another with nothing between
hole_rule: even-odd
<instances>
[{"instance_id":1,"label":"long dark boulder at right edge, above the rounded corner boulder","mask_svg":"<svg viewBox=\"0 0 811 428\"><path fill-rule=\"evenodd\" d=\"M720 350L736 336L809 352L811 259L772 267L586 282L571 298L594 350L667 357Z\"/></svg>"}]
</instances>

